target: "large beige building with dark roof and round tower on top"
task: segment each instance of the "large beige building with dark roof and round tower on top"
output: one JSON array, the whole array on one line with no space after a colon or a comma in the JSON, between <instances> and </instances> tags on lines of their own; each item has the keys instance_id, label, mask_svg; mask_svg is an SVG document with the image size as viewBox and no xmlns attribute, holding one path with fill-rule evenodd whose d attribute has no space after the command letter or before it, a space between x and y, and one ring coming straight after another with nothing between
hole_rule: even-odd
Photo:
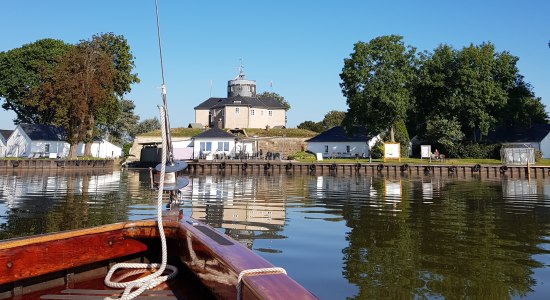
<instances>
[{"instance_id":1,"label":"large beige building with dark roof and round tower on top","mask_svg":"<svg viewBox=\"0 0 550 300\"><path fill-rule=\"evenodd\" d=\"M227 98L209 98L195 107L195 123L211 128L273 128L285 126L285 107L256 96L256 81L239 75L227 82Z\"/></svg>"}]
</instances>

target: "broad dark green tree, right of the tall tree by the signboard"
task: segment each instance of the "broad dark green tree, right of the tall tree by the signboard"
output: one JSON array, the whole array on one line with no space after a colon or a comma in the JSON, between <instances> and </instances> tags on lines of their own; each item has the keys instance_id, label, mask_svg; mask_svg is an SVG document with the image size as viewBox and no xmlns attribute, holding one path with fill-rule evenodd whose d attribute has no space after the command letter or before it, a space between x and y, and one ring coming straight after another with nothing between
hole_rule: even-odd
<instances>
[{"instance_id":1,"label":"broad dark green tree, right of the tall tree by the signboard","mask_svg":"<svg viewBox=\"0 0 550 300\"><path fill-rule=\"evenodd\" d=\"M441 45L432 54L421 55L410 127L422 135L456 137L458 124L462 136L467 133L474 142L481 140L504 111L509 117L513 111L524 110L522 105L507 108L513 90L519 88L517 60L507 52L496 52L491 43L461 50ZM516 90L516 94L521 92ZM434 135L427 129L430 122L453 125L443 127L449 132Z\"/></svg>"}]
</instances>

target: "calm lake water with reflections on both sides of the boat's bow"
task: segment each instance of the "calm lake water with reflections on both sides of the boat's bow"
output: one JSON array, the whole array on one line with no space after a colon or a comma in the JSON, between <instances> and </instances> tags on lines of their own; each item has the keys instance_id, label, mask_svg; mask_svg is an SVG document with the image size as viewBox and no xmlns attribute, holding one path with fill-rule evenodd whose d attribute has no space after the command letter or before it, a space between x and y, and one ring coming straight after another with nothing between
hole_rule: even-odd
<instances>
[{"instance_id":1,"label":"calm lake water with reflections on both sides of the boat's bow","mask_svg":"<svg viewBox=\"0 0 550 300\"><path fill-rule=\"evenodd\" d=\"M321 299L548 299L550 179L192 175L184 213ZM146 171L0 173L0 239L152 218Z\"/></svg>"}]
</instances>

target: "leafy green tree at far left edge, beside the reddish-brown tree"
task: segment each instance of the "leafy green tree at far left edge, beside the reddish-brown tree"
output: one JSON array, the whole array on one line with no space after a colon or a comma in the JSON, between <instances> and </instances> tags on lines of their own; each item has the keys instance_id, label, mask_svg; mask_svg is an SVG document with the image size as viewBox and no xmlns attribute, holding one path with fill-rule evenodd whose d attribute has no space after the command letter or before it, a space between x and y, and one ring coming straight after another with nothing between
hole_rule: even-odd
<instances>
[{"instance_id":1,"label":"leafy green tree at far left edge, beside the reddish-brown tree","mask_svg":"<svg viewBox=\"0 0 550 300\"><path fill-rule=\"evenodd\" d=\"M51 82L54 70L73 46L63 41L42 39L0 53L0 98L2 108L17 115L15 123L47 124L54 111L29 106L26 101L40 84Z\"/></svg>"}]
</instances>

